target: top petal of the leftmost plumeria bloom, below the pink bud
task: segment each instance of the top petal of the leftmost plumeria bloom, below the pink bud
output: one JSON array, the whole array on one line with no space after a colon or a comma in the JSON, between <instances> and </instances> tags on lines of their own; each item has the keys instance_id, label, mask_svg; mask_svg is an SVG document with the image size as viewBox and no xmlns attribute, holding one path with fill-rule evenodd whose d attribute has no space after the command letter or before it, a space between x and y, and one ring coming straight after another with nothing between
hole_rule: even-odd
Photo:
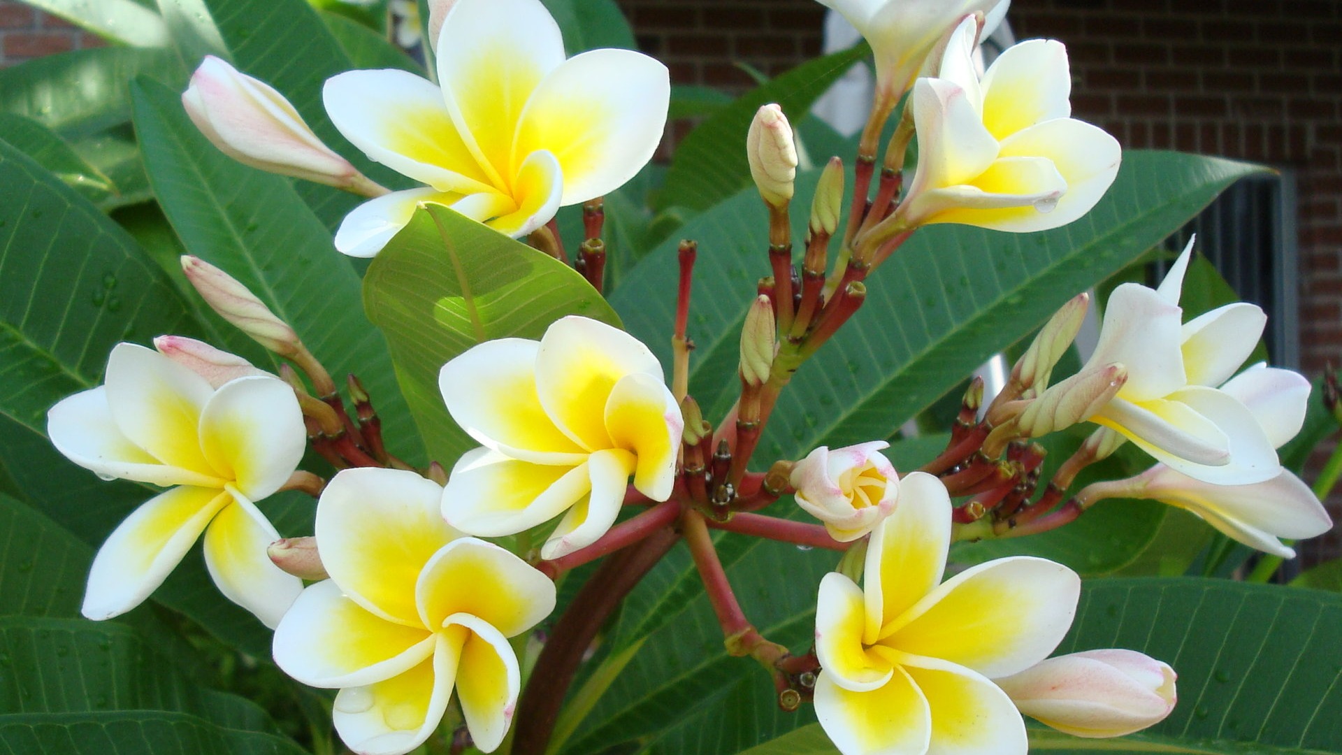
<instances>
[{"instance_id":1,"label":"top petal of the leftmost plumeria bloom, below the pink bud","mask_svg":"<svg viewBox=\"0 0 1342 755\"><path fill-rule=\"evenodd\" d=\"M121 433L162 463L217 473L200 450L200 410L215 392L204 378L136 344L107 357L107 406Z\"/></svg>"}]
</instances>

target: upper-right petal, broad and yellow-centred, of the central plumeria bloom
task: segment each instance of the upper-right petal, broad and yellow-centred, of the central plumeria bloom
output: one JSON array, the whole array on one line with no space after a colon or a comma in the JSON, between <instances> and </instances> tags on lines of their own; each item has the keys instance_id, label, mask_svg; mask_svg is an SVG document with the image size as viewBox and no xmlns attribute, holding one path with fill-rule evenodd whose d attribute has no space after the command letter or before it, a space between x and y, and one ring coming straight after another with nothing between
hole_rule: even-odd
<instances>
[{"instance_id":1,"label":"upper-right petal, broad and yellow-centred, of the central plumeria bloom","mask_svg":"<svg viewBox=\"0 0 1342 755\"><path fill-rule=\"evenodd\" d=\"M541 339L535 376L545 414L586 450L612 447L605 404L635 372L663 380L662 364L637 339L586 317L556 321Z\"/></svg>"}]
</instances>

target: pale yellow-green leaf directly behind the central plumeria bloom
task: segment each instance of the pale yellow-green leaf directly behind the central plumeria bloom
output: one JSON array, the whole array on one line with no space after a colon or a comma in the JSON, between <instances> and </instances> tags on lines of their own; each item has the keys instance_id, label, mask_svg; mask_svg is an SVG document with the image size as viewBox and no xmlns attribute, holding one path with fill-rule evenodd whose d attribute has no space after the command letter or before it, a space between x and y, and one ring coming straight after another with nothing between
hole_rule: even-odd
<instances>
[{"instance_id":1,"label":"pale yellow-green leaf directly behind the central plumeria bloom","mask_svg":"<svg viewBox=\"0 0 1342 755\"><path fill-rule=\"evenodd\" d=\"M436 204L417 210L373 258L364 308L386 336L429 458L447 468L479 443L447 414L443 364L491 339L539 339L568 314L620 325L569 266Z\"/></svg>"}]
</instances>

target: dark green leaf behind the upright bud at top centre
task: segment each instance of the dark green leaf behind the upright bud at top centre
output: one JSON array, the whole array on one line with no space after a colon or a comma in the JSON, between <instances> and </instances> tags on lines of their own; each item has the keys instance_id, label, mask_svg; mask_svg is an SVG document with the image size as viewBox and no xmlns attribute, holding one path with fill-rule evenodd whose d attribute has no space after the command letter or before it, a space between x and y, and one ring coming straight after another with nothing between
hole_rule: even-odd
<instances>
[{"instance_id":1,"label":"dark green leaf behind the upright bud at top centre","mask_svg":"<svg viewBox=\"0 0 1342 755\"><path fill-rule=\"evenodd\" d=\"M667 172L667 185L658 196L658 207L707 210L753 185L745 144L756 110L768 102L777 102L785 113L801 122L811 103L868 52L866 44L858 44L803 63L750 90L699 124L676 146ZM797 207L807 206L798 203ZM805 214L801 215L804 220Z\"/></svg>"}]
</instances>

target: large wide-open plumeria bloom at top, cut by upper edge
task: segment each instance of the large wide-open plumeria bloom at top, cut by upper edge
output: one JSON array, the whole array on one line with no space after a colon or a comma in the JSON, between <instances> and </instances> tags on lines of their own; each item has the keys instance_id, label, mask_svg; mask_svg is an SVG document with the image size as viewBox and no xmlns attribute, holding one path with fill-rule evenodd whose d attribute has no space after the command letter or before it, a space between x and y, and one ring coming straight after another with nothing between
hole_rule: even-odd
<instances>
[{"instance_id":1,"label":"large wide-open plumeria bloom at top, cut by upper edge","mask_svg":"<svg viewBox=\"0 0 1342 755\"><path fill-rule=\"evenodd\" d=\"M437 38L437 81L349 71L323 91L336 128L369 159L427 184L364 203L336 234L377 254L420 203L526 235L601 196L652 157L671 97L666 66L629 50L564 56L539 0L459 0Z\"/></svg>"}]
</instances>

